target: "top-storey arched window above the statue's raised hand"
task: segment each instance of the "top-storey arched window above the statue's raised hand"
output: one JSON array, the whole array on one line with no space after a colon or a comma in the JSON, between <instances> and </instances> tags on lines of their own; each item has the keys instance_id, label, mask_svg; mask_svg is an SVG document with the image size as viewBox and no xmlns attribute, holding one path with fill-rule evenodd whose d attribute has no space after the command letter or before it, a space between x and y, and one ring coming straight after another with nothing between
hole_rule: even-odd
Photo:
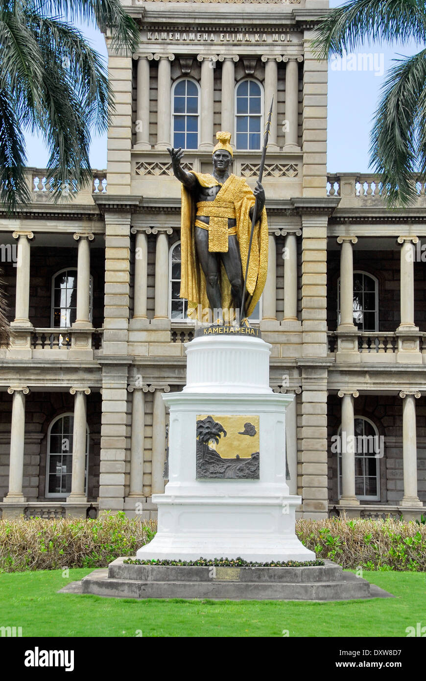
<instances>
[{"instance_id":1,"label":"top-storey arched window above the statue's raised hand","mask_svg":"<svg viewBox=\"0 0 426 681\"><path fill-rule=\"evenodd\" d=\"M199 84L189 78L177 80L171 88L171 138L173 146L198 148Z\"/></svg>"}]
</instances>

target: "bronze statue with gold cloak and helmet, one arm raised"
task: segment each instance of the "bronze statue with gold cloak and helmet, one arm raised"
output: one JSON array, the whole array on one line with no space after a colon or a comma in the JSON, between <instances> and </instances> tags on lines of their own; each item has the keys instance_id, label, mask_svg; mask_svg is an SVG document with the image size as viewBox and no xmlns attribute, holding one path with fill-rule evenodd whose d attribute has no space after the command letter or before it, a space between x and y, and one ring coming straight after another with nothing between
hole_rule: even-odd
<instances>
[{"instance_id":1,"label":"bronze statue with gold cloak and helmet, one arm raised","mask_svg":"<svg viewBox=\"0 0 426 681\"><path fill-rule=\"evenodd\" d=\"M265 191L260 182L252 191L244 178L229 174L233 157L231 133L218 132L216 138L212 174L184 170L182 149L168 149L174 174L182 183L180 298L189 301L189 317L199 321L206 321L206 308L223 311L231 321L246 296L247 304L240 317L248 317L261 297L267 272Z\"/></svg>"}]
</instances>

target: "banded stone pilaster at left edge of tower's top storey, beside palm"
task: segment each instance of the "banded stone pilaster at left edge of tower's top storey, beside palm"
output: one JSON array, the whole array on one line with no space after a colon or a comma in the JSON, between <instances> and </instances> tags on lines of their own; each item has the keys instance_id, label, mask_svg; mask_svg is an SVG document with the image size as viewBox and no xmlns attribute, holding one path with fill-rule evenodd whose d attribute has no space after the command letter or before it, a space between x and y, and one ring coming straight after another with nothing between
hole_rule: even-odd
<instances>
[{"instance_id":1,"label":"banded stone pilaster at left edge of tower's top storey, beside palm","mask_svg":"<svg viewBox=\"0 0 426 681\"><path fill-rule=\"evenodd\" d=\"M108 81L116 110L108 127L108 194L131 193L132 59L110 51Z\"/></svg>"}]
</instances>

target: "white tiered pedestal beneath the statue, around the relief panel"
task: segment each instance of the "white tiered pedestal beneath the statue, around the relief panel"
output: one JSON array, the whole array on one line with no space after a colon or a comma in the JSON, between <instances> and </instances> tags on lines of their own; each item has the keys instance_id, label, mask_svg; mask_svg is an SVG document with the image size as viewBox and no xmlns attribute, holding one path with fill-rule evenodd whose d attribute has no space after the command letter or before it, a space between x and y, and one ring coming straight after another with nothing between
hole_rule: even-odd
<instances>
[{"instance_id":1,"label":"white tiered pedestal beneath the statue, around the relief panel","mask_svg":"<svg viewBox=\"0 0 426 681\"><path fill-rule=\"evenodd\" d=\"M137 558L314 560L295 535L301 498L289 494L285 479L285 408L294 395L269 387L270 347L226 335L186 344L188 382L182 392L163 395L170 411L169 483L152 496L158 531ZM200 415L259 417L259 479L197 479Z\"/></svg>"}]
</instances>

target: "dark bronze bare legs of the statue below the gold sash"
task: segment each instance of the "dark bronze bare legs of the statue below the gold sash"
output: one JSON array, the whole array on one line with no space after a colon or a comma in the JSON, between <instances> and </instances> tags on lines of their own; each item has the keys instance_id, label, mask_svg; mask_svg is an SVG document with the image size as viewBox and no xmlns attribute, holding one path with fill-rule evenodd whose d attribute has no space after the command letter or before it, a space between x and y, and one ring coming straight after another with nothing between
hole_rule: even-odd
<instances>
[{"instance_id":1,"label":"dark bronze bare legs of the statue below the gold sash","mask_svg":"<svg viewBox=\"0 0 426 681\"><path fill-rule=\"evenodd\" d=\"M240 308L244 279L242 276L242 265L240 247L237 235L228 237L227 253L210 253L208 249L208 231L195 227L195 247L201 268L206 276L206 289L208 302L212 310L222 307L219 287L220 259L223 262L229 283L231 284L231 294L235 309ZM242 315L244 316L244 315Z\"/></svg>"}]
</instances>

